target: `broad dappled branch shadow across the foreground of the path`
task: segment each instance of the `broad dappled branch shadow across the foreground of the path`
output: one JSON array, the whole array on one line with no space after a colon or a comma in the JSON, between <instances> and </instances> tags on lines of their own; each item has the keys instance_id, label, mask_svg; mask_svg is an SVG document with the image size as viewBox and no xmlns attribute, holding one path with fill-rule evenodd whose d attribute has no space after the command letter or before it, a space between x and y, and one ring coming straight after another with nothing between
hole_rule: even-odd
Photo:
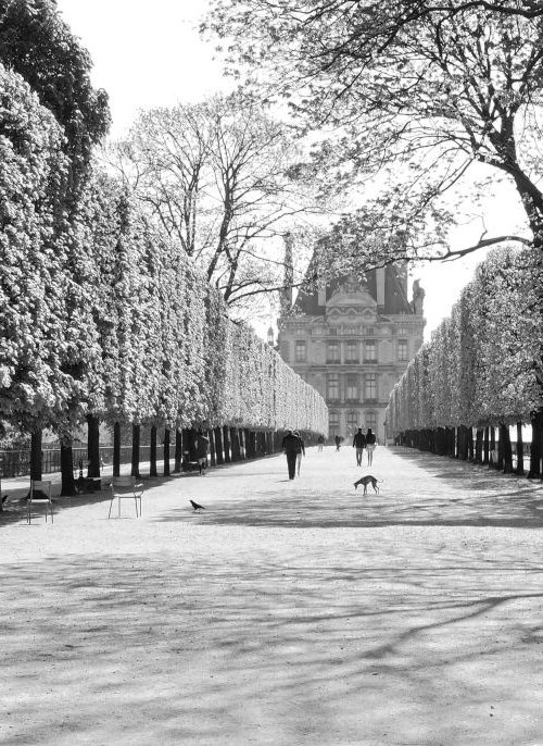
<instances>
[{"instance_id":1,"label":"broad dappled branch shadow across the foreground of the path","mask_svg":"<svg viewBox=\"0 0 543 746\"><path fill-rule=\"evenodd\" d=\"M518 716L507 728L533 736L529 679L516 691L503 671L515 659L526 666L530 650L541 670L533 657L543 642L540 559L457 546L390 556L391 546L350 544L341 561L315 546L283 556L211 548L207 558L97 555L4 565L14 742L59 743L70 720L79 743L114 743L119 733L143 743L138 732L147 743L150 735L251 743L248 732L240 737L243 728L272 720L280 723L275 743L379 743L349 741L351 703L371 712L356 720L358 734L371 722L403 738L390 743L412 743L397 718L403 701L420 729L416 743L437 743L439 732L439 743L459 744L455 719L482 728L478 708L504 691ZM330 728L336 737L327 741ZM508 743L519 743L510 733Z\"/></svg>"}]
</instances>

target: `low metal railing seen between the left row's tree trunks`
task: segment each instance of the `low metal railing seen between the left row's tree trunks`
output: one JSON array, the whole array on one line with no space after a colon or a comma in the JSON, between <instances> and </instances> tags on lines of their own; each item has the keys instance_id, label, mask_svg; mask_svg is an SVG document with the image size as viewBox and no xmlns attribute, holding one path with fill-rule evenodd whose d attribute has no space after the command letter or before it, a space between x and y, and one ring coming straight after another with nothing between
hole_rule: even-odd
<instances>
[{"instance_id":1,"label":"low metal railing seen between the left row's tree trunks","mask_svg":"<svg viewBox=\"0 0 543 746\"><path fill-rule=\"evenodd\" d=\"M121 447L121 463L130 463L132 449L131 446ZM74 471L79 472L79 464L87 469L88 456L87 448L73 448ZM151 456L150 446L140 446L140 461L149 461ZM159 456L159 453L157 453ZM103 465L113 463L113 446L100 448L100 460ZM60 448L50 448L41 452L41 473L52 474L61 470ZM30 473L30 451L29 450L3 450L0 451L0 475L27 476Z\"/></svg>"}]
</instances>

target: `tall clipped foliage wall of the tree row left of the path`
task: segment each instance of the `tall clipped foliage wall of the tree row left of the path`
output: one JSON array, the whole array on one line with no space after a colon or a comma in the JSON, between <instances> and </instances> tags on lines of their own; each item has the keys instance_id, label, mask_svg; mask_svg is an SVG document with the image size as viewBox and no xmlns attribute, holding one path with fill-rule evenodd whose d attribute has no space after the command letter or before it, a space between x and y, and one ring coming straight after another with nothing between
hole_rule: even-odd
<instances>
[{"instance_id":1,"label":"tall clipped foliage wall of the tree row left of the path","mask_svg":"<svg viewBox=\"0 0 543 746\"><path fill-rule=\"evenodd\" d=\"M65 439L88 413L326 432L324 400L137 208L87 169L70 219L62 128L0 66L0 411ZM60 226L60 228L59 228Z\"/></svg>"}]
</instances>

